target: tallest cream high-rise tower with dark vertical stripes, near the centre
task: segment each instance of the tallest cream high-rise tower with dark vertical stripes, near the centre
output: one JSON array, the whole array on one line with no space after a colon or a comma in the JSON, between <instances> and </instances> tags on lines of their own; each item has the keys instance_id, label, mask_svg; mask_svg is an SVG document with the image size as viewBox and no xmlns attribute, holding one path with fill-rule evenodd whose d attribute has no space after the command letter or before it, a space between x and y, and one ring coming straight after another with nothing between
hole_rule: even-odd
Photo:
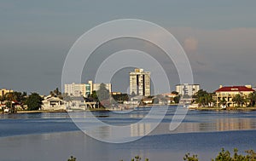
<instances>
[{"instance_id":1,"label":"tallest cream high-rise tower with dark vertical stripes, near the centre","mask_svg":"<svg viewBox=\"0 0 256 161\"><path fill-rule=\"evenodd\" d=\"M130 72L130 95L150 95L150 72L143 69L135 69Z\"/></svg>"}]
</instances>

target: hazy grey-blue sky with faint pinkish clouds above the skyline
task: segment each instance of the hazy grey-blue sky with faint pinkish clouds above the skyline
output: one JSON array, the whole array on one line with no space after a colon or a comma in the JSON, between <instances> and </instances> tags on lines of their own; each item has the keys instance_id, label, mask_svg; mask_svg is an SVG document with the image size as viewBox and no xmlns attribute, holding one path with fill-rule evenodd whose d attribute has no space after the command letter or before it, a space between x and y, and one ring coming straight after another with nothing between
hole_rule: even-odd
<instances>
[{"instance_id":1,"label":"hazy grey-blue sky with faint pinkish clouds above the skyline","mask_svg":"<svg viewBox=\"0 0 256 161\"><path fill-rule=\"evenodd\" d=\"M42 95L61 88L62 67L73 43L91 28L117 19L148 20L171 32L188 55L194 82L202 89L212 92L220 84L255 86L255 6L254 0L1 0L0 88ZM124 42L105 45L96 53L101 57L125 48L124 44L134 48L140 44ZM157 52L154 47L142 49ZM129 71L116 73L113 90L124 92L120 88L128 86ZM172 65L170 71L175 71ZM168 74L174 90L178 79L175 72ZM91 75L84 73L84 82Z\"/></svg>"}]
</instances>

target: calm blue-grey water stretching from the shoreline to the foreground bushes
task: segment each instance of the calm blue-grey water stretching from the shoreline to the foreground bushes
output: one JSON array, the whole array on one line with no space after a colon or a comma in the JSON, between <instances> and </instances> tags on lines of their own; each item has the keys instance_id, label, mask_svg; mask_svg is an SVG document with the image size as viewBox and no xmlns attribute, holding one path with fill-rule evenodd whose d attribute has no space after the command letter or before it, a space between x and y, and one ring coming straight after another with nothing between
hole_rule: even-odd
<instances>
[{"instance_id":1,"label":"calm blue-grey water stretching from the shoreline to the foreground bushes","mask_svg":"<svg viewBox=\"0 0 256 161\"><path fill-rule=\"evenodd\" d=\"M136 123L148 111L93 113L107 124L126 125ZM201 160L209 160L207 158L213 158L221 147L256 150L256 112L189 111L183 123L170 131L174 112L175 108L169 107L166 117L154 131L138 141L123 144L96 141L84 135L68 113L0 115L0 160L66 161L74 155L79 161L119 161L140 155L150 161L177 161L183 160L186 152L195 152ZM76 118L87 116L86 112L73 115ZM151 123L133 127L129 135L143 135ZM96 133L112 136L108 128L101 127Z\"/></svg>"}]
</instances>

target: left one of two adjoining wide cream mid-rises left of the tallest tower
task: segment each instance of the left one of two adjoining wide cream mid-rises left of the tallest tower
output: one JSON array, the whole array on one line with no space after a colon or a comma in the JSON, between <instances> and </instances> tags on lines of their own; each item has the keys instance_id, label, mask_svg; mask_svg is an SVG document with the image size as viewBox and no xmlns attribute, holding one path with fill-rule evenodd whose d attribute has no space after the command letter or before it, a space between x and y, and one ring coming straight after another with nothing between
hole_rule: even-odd
<instances>
[{"instance_id":1,"label":"left one of two adjoining wide cream mid-rises left of the tallest tower","mask_svg":"<svg viewBox=\"0 0 256 161\"><path fill-rule=\"evenodd\" d=\"M85 83L69 83L65 84L64 88L67 95L86 97L90 94L90 85Z\"/></svg>"}]
</instances>

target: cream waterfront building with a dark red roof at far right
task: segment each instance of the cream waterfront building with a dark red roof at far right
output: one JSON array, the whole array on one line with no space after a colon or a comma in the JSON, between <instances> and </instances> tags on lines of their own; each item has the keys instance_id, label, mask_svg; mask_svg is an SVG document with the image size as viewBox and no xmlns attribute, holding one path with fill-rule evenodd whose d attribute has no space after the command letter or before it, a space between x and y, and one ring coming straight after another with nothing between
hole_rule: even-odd
<instances>
[{"instance_id":1,"label":"cream waterfront building with a dark red roof at far right","mask_svg":"<svg viewBox=\"0 0 256 161\"><path fill-rule=\"evenodd\" d=\"M219 89L215 90L215 100L217 106L223 106L225 101L226 106L238 106L236 102L233 101L233 98L236 95L241 95L246 102L241 106L247 106L249 102L247 102L248 96L253 93L253 89L251 85L245 86L219 86Z\"/></svg>"}]
</instances>

